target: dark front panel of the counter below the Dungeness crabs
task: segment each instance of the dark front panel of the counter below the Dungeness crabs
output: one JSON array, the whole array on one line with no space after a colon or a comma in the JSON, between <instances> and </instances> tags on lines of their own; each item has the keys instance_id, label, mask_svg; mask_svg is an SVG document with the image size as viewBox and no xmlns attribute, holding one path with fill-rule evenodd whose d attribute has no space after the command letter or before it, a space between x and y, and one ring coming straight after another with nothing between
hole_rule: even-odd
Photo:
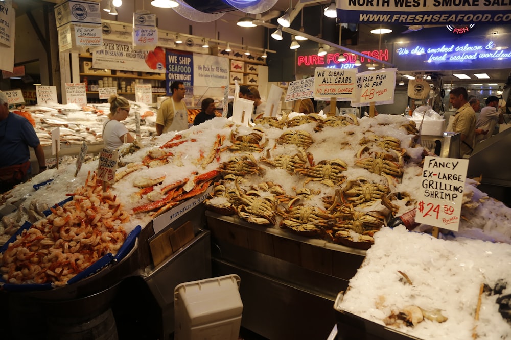
<instances>
[{"instance_id":1,"label":"dark front panel of the counter below the Dungeness crabs","mask_svg":"<svg viewBox=\"0 0 511 340\"><path fill-rule=\"evenodd\" d=\"M242 326L266 338L327 338L332 306L365 250L206 211L214 276L241 278Z\"/></svg>"}]
</instances>

